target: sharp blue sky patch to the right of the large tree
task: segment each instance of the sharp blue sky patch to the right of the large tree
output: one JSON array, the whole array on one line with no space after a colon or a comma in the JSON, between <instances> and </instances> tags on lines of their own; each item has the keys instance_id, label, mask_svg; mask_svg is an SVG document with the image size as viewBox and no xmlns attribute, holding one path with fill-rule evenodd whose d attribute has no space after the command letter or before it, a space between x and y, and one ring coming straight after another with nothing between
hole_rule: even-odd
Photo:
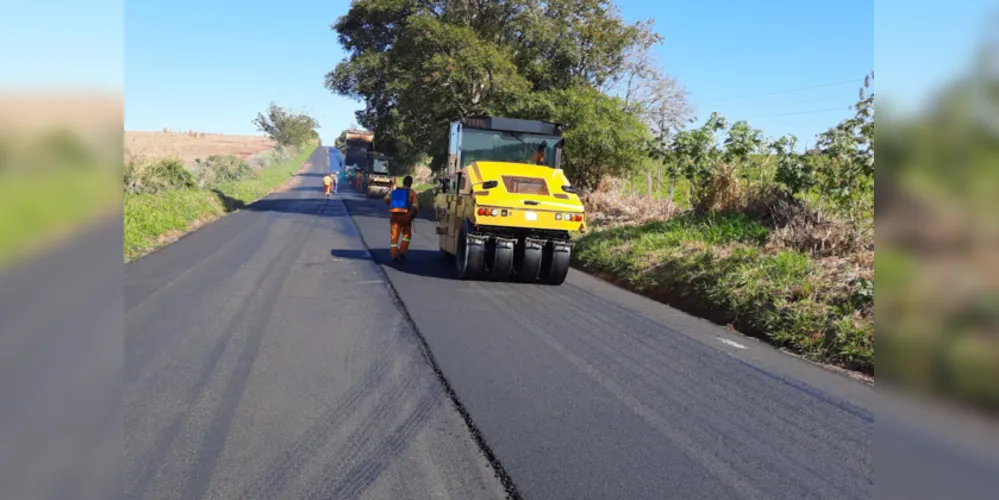
<instances>
[{"instance_id":1,"label":"sharp blue sky patch to the right of the large tree","mask_svg":"<svg viewBox=\"0 0 999 500\"><path fill-rule=\"evenodd\" d=\"M665 71L712 111L802 143L849 116L874 69L872 0L622 0L629 19L653 18ZM802 144L804 145L804 144Z\"/></svg>"}]
</instances>

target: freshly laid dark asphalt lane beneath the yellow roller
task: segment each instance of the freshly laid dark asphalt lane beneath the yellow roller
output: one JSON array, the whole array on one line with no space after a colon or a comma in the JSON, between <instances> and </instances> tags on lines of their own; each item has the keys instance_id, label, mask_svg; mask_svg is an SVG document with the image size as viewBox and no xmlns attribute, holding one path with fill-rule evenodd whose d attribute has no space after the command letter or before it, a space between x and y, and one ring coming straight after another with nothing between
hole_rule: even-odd
<instances>
[{"instance_id":1,"label":"freshly laid dark asphalt lane beneath the yellow roller","mask_svg":"<svg viewBox=\"0 0 999 500\"><path fill-rule=\"evenodd\" d=\"M874 496L873 387L584 273L561 287L456 281L430 220L393 265L384 205L345 199L525 498ZM994 427L964 432L950 413L908 426L926 406L891 409L879 497L995 498L999 448L970 451L999 442Z\"/></svg>"}]
</instances>

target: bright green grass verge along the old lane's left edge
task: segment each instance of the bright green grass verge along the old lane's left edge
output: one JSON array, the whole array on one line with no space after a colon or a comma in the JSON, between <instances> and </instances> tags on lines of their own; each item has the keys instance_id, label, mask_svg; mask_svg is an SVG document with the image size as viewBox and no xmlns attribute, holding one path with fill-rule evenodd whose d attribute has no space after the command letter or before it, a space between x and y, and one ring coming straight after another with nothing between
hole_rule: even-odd
<instances>
[{"instance_id":1,"label":"bright green grass verge along the old lane's left edge","mask_svg":"<svg viewBox=\"0 0 999 500\"><path fill-rule=\"evenodd\" d=\"M206 223L253 203L280 186L312 154L306 147L295 157L260 169L249 179L222 184L215 190L177 189L124 197L124 259L138 258L180 236L195 224Z\"/></svg>"}]
</instances>

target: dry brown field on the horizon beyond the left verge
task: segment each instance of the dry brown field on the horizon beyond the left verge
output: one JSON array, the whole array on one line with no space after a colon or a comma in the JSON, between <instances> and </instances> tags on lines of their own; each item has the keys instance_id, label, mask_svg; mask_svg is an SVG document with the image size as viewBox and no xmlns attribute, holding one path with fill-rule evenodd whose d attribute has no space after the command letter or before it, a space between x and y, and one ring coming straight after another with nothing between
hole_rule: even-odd
<instances>
[{"instance_id":1,"label":"dry brown field on the horizon beyond the left verge","mask_svg":"<svg viewBox=\"0 0 999 500\"><path fill-rule=\"evenodd\" d=\"M175 157L190 164L197 158L231 154L242 159L273 149L277 143L263 135L227 135L179 131L125 131L126 161Z\"/></svg>"}]
</instances>

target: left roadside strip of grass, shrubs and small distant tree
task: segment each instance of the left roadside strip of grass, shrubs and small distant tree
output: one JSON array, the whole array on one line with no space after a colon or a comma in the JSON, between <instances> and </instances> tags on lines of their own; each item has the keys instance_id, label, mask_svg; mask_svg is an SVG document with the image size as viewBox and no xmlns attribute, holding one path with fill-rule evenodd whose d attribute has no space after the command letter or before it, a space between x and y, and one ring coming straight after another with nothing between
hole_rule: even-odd
<instances>
[{"instance_id":1,"label":"left roadside strip of grass, shrubs and small distant tree","mask_svg":"<svg viewBox=\"0 0 999 500\"><path fill-rule=\"evenodd\" d=\"M123 173L124 260L134 260L287 182L318 145L311 118L271 105L254 121L278 146L246 160L211 155L128 158Z\"/></svg>"}]
</instances>

